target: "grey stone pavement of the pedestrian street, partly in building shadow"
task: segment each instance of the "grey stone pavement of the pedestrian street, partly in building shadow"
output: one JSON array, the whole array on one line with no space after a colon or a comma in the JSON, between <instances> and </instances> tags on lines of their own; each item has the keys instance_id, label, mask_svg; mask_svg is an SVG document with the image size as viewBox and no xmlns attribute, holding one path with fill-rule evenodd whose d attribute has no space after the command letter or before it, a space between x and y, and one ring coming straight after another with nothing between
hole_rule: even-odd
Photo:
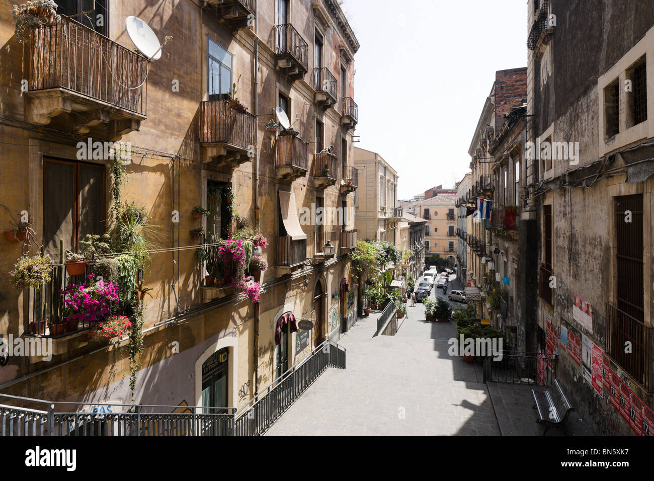
<instances>
[{"instance_id":1,"label":"grey stone pavement of the pedestrian street, partly in building shadow","mask_svg":"<svg viewBox=\"0 0 654 481\"><path fill-rule=\"evenodd\" d=\"M347 369L326 370L266 435L500 435L481 366L447 354L455 325L407 311L396 336L373 337L379 313L360 318L339 342Z\"/></svg>"}]
</instances>

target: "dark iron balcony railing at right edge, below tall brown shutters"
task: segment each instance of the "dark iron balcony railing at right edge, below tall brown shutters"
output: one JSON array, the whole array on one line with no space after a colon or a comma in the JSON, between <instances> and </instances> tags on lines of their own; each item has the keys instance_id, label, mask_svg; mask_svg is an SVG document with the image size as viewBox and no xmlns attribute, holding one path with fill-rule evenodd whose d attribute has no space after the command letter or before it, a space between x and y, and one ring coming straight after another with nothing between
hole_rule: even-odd
<instances>
[{"instance_id":1,"label":"dark iron balcony railing at right edge, below tall brown shutters","mask_svg":"<svg viewBox=\"0 0 654 481\"><path fill-rule=\"evenodd\" d=\"M653 327L642 323L613 304L606 304L606 352L648 392L652 391L651 346ZM625 353L625 346L631 350Z\"/></svg>"}]
</instances>

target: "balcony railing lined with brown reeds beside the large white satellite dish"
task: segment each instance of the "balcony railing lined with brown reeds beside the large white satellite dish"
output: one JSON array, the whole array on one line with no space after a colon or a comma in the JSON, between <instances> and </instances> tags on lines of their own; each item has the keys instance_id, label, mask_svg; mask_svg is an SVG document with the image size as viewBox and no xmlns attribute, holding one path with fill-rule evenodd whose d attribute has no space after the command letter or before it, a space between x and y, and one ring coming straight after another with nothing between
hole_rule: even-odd
<instances>
[{"instance_id":1,"label":"balcony railing lined with brown reeds beside the large white satellite dish","mask_svg":"<svg viewBox=\"0 0 654 481\"><path fill-rule=\"evenodd\" d=\"M29 29L29 90L64 88L146 115L148 59L71 18Z\"/></svg>"}]
</instances>

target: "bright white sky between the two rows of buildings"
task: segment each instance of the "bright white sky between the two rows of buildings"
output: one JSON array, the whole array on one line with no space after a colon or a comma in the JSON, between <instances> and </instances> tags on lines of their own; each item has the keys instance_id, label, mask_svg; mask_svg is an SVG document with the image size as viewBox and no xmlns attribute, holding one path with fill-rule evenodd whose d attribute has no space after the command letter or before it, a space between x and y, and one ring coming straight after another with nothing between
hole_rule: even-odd
<instances>
[{"instance_id":1,"label":"bright white sky between the two rows of buildings","mask_svg":"<svg viewBox=\"0 0 654 481\"><path fill-rule=\"evenodd\" d=\"M526 0L344 0L342 8L361 44L354 145L398 171L398 198L453 187L470 170L495 71L526 66Z\"/></svg>"}]
</instances>

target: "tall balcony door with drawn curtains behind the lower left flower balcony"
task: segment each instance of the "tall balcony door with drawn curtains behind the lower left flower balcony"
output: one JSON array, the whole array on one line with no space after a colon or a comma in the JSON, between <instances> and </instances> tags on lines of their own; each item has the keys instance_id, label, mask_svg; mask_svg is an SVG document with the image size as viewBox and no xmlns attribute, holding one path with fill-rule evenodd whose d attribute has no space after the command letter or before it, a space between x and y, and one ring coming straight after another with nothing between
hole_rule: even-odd
<instances>
[{"instance_id":1,"label":"tall balcony door with drawn curtains behind the lower left flower balcony","mask_svg":"<svg viewBox=\"0 0 654 481\"><path fill-rule=\"evenodd\" d=\"M105 217L105 166L44 158L43 243L55 262L60 239L77 252L86 234L105 233Z\"/></svg>"}]
</instances>

